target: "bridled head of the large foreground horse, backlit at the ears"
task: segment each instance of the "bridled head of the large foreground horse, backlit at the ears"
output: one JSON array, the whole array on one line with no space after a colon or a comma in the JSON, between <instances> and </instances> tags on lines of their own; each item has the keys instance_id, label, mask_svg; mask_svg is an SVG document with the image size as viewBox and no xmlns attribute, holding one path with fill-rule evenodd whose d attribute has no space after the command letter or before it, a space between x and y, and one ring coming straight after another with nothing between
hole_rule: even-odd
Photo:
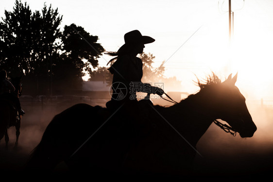
<instances>
[{"instance_id":1,"label":"bridled head of the large foreground horse, backlit at the ears","mask_svg":"<svg viewBox=\"0 0 273 182\"><path fill-rule=\"evenodd\" d=\"M210 79L210 81L214 80L214 84L211 84L214 85L213 89L207 91L209 92L210 109L214 111L214 118L227 122L233 131L239 132L242 138L252 137L257 128L247 109L246 99L235 86L237 74L233 78L230 74L224 82L221 82L215 75L213 77L214 79ZM204 85L206 84L199 83L201 91L205 87Z\"/></svg>"}]
</instances>

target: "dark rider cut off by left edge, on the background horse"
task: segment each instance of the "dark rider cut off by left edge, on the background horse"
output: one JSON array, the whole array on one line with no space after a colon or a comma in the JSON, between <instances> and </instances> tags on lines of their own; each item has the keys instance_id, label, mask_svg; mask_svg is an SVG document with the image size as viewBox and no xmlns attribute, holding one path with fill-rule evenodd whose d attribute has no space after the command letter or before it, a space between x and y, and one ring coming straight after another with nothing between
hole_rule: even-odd
<instances>
[{"instance_id":1,"label":"dark rider cut off by left edge, on the background horse","mask_svg":"<svg viewBox=\"0 0 273 182\"><path fill-rule=\"evenodd\" d=\"M25 112L21 108L19 98L14 94L14 85L7 80L7 72L5 70L0 71L0 99L6 99L15 104L18 111L18 115L24 115Z\"/></svg>"}]
</instances>

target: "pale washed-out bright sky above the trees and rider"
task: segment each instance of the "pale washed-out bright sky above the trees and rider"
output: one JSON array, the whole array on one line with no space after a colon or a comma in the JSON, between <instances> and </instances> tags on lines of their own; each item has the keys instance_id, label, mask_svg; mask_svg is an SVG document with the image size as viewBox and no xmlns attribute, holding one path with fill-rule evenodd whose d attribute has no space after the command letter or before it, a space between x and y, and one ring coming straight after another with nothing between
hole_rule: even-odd
<instances>
[{"instance_id":1,"label":"pale washed-out bright sky above the trees and rider","mask_svg":"<svg viewBox=\"0 0 273 182\"><path fill-rule=\"evenodd\" d=\"M22 0L24 2L25 0ZM176 76L189 93L198 90L192 80L211 71L223 79L238 72L245 95L272 98L273 0L231 0L234 38L228 42L228 0L27 0L32 10L44 2L63 15L62 27L75 23L107 51L123 45L123 35L139 30L155 39L144 52L165 61L167 76ZM0 0L0 17L15 0ZM90 48L91 49L91 48ZM110 58L103 55L100 66ZM167 88L166 88L167 89ZM272 95L273 96L273 95Z\"/></svg>"}]
</instances>

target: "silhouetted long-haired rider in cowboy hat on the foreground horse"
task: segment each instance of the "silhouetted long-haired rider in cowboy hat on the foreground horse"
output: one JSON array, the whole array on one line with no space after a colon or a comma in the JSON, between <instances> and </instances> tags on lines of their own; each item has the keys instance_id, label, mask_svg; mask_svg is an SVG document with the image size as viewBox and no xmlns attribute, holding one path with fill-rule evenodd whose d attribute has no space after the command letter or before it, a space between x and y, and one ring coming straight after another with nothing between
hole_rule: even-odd
<instances>
[{"instance_id":1,"label":"silhouetted long-haired rider in cowboy hat on the foreground horse","mask_svg":"<svg viewBox=\"0 0 273 182\"><path fill-rule=\"evenodd\" d=\"M154 87L150 83L142 83L143 75L142 60L137 54L143 52L144 44L154 42L154 38L143 36L138 30L128 32L124 35L125 44L117 52L107 52L106 54L115 56L111 59L108 70L113 74L112 98L106 103L106 107L112 113L117 112L119 120L132 124L131 128L147 128L147 110L153 105L150 94L162 96L164 91L159 87ZM113 61L115 61L113 63ZM108 65L107 64L107 65ZM137 100L136 92L144 92L148 95L146 99ZM149 125L149 124L148 124ZM130 128L130 127L129 127ZM142 134L143 130L138 133Z\"/></svg>"}]
</instances>

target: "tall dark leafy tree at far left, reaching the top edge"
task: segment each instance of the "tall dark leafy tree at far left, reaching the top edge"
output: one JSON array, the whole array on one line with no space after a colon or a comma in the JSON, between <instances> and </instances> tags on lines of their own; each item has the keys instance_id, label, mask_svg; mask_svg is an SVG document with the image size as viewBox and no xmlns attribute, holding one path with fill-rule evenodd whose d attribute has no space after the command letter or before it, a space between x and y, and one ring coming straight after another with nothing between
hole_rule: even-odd
<instances>
[{"instance_id":1,"label":"tall dark leafy tree at far left, reaching the top edge","mask_svg":"<svg viewBox=\"0 0 273 182\"><path fill-rule=\"evenodd\" d=\"M40 76L48 72L48 61L54 44L60 36L62 17L58 11L44 5L42 14L32 13L29 5L16 0L12 12L5 11L0 22L0 37L3 40L1 66L11 73Z\"/></svg>"}]
</instances>

